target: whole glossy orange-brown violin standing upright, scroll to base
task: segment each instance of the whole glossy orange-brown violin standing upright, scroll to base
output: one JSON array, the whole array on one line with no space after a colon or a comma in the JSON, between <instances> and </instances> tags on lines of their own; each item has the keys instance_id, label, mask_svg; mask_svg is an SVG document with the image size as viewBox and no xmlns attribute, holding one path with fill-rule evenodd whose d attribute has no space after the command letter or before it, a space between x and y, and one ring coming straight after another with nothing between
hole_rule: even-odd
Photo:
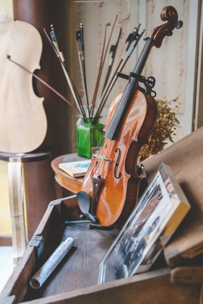
<instances>
[{"instance_id":1,"label":"whole glossy orange-brown violin standing upright, scroll to base","mask_svg":"<svg viewBox=\"0 0 203 304\"><path fill-rule=\"evenodd\" d=\"M161 19L167 23L144 39L146 43L133 72L129 76L118 73L128 83L110 105L103 146L93 154L82 191L77 193L82 213L96 225L123 226L137 203L142 180L136 171L137 160L142 145L149 143L158 114L151 95L155 79L145 79L141 73L152 47L159 48L164 37L171 36L173 29L183 24L173 6L162 10ZM146 91L139 82L145 84Z\"/></svg>"}]
</instances>

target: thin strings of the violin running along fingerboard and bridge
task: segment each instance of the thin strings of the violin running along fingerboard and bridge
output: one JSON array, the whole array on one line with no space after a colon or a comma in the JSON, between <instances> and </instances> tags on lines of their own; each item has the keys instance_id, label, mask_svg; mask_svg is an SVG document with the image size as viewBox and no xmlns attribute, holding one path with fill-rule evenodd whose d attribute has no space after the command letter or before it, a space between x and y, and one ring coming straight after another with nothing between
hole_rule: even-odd
<instances>
[{"instance_id":1,"label":"thin strings of the violin running along fingerboard and bridge","mask_svg":"<svg viewBox=\"0 0 203 304\"><path fill-rule=\"evenodd\" d=\"M139 61L140 61L140 58L145 54L146 49L148 49L149 41L152 40L152 39L154 38L154 36L155 36L155 35L151 36L151 37L147 40L147 42L145 43L145 46L143 47L143 50L142 50L142 52L140 53L140 55L139 55L139 57L138 57L138 60L137 60L135 66L134 66L134 68L133 68L133 71L135 70L135 67L138 65L138 63L139 63ZM114 114L115 114L115 112L116 112L116 110L117 110L117 108L118 108L118 106L119 106L119 104L120 104L121 98L122 98L123 95L124 95L125 89L126 89L128 83L129 83L130 79L131 79L131 77L130 77L129 80L126 82L125 87L124 87L124 90L123 90L123 92L122 92L122 94L121 94L121 96L120 96L120 98L119 98L119 100L118 100L118 102L117 102L117 105L115 106L114 110L112 111L112 113L111 113L111 115L110 115L110 118L109 118L109 120L108 120L108 122L107 122L107 125L106 125L106 126L107 126L106 129L108 129L108 127L109 127L109 125L110 125L111 118L114 116ZM103 131L102 136L100 137L99 143L97 144L97 146L96 146L96 148L95 148L95 150L94 150L94 154L95 154L96 150L98 150L98 147L99 147L101 141L103 140L104 134L105 134L105 131ZM107 142L108 142L108 141L109 141L109 139L107 139ZM106 145L107 145L107 142L106 142ZM106 145L105 145L105 146L106 146ZM103 145L103 147L104 147L104 145ZM100 151L102 150L103 147L102 147L102 146L100 147L100 150L99 150L99 152L98 152L99 155L100 155ZM104 148L104 149L105 149L105 148ZM104 149L103 149L103 152L104 152ZM103 155L103 152L102 152L101 155ZM97 161L97 157L96 157L96 161ZM93 163L93 162L92 162L92 163ZM99 161L99 168L98 168L98 169L100 169L100 165L101 165L101 161ZM92 167L92 170L93 170L93 167ZM96 170L97 170L97 169L96 169L96 162L95 162L95 178L96 178ZM106 170L107 170L107 168L106 168ZM98 170L98 172L99 172L99 170ZM93 176L93 175L94 175L94 173L93 173L93 171L92 171L92 176Z\"/></svg>"}]
</instances>

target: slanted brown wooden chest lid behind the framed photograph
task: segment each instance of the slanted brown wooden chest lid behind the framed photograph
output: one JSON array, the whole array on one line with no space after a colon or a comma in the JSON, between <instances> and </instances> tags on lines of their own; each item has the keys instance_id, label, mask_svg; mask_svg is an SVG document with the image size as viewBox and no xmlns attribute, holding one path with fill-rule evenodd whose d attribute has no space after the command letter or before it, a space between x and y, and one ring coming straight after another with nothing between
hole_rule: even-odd
<instances>
[{"instance_id":1,"label":"slanted brown wooden chest lid behind the framed photograph","mask_svg":"<svg viewBox=\"0 0 203 304\"><path fill-rule=\"evenodd\" d=\"M177 266L203 252L203 127L143 162L150 182L163 162L170 166L191 210L164 248L166 262Z\"/></svg>"}]
</instances>

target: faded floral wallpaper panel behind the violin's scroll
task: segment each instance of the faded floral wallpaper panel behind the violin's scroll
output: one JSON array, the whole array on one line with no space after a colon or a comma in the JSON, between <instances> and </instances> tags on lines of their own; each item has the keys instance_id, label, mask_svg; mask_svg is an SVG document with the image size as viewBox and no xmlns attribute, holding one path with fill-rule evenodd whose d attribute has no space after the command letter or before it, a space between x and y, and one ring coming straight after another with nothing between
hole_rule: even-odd
<instances>
[{"instance_id":1,"label":"faded floral wallpaper panel behind the violin's scroll","mask_svg":"<svg viewBox=\"0 0 203 304\"><path fill-rule=\"evenodd\" d=\"M172 100L178 97L179 104L175 111L183 114L186 86L189 1L148 0L146 32L150 35L155 25L161 24L156 23L157 20L160 20L161 10L167 5L172 5L176 8L179 14L178 20L183 21L183 26L180 29L174 29L173 36L166 36L159 49L152 48L146 62L145 74L146 76L155 77L155 91L157 92L158 99Z\"/></svg>"}]
</instances>

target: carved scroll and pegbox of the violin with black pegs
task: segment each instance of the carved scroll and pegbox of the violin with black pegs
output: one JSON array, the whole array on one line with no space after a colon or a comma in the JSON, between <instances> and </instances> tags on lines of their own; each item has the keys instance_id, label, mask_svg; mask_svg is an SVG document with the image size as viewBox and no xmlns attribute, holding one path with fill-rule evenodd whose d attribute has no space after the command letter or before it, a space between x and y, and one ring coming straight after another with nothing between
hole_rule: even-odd
<instances>
[{"instance_id":1,"label":"carved scroll and pegbox of the violin with black pegs","mask_svg":"<svg viewBox=\"0 0 203 304\"><path fill-rule=\"evenodd\" d=\"M168 21L167 23L157 26L151 37L154 38L153 45L157 48L159 48L162 44L163 38L165 36L172 36L173 35L173 29L180 29L183 25L183 22L181 20L178 20L178 13L177 10L174 9L173 6L166 6L163 8L161 12L161 19L162 21Z\"/></svg>"}]
</instances>

